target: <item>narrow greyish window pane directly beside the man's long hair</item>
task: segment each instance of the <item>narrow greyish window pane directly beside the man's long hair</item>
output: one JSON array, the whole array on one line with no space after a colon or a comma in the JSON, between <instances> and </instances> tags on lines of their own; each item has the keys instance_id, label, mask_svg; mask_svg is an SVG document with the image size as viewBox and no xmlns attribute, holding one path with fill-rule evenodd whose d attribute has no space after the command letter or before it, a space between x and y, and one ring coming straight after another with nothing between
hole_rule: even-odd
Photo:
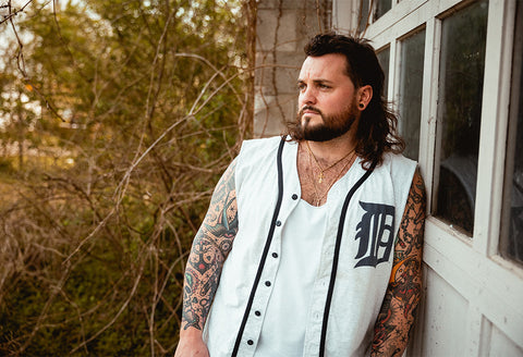
<instances>
[{"instance_id":1,"label":"narrow greyish window pane directly beside the man's long hair","mask_svg":"<svg viewBox=\"0 0 523 357\"><path fill-rule=\"evenodd\" d=\"M419 152L424 52L425 30L402 41L399 128L406 143L403 155L416 161Z\"/></svg>"}]
</instances>

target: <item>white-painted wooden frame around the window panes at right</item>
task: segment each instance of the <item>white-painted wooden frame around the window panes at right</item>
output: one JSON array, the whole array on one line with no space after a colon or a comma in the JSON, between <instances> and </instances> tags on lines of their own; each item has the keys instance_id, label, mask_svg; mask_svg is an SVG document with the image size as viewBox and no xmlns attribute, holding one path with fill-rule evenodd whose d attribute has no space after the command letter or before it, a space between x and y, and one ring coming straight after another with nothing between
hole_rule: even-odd
<instances>
[{"instance_id":1,"label":"white-painted wooden frame around the window panes at right","mask_svg":"<svg viewBox=\"0 0 523 357\"><path fill-rule=\"evenodd\" d=\"M467 356L479 356L490 348L490 342L484 336L491 335L492 324L523 348L523 269L498 253L516 1L488 2L473 237L436 217L428 216L426 221L424 262L452 286L459 287L460 294L469 301L466 336L463 338L463 350ZM372 39L376 49L390 48L388 99L398 102L401 39L421 26L425 27L418 162L426 181L428 213L433 207L433 186L438 181L434 168L439 163L436 126L441 21L473 2L402 0L397 3L392 0L392 9L369 25L364 36ZM357 19L357 1L349 4L346 0L338 0L333 4L335 27L345 28L345 32L357 28L354 20ZM337 12L337 7L338 10L344 9L345 13ZM354 30L349 33L354 34ZM507 313L508 306L512 313ZM416 355L416 348L413 350Z\"/></svg>"}]
</instances>

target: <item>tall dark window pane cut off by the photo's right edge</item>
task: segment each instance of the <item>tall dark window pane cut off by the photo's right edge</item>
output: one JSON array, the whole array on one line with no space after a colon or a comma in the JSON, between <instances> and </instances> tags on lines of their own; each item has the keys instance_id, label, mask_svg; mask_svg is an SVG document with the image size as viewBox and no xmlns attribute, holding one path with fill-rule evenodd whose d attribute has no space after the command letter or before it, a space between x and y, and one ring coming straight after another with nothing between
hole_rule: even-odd
<instances>
[{"instance_id":1,"label":"tall dark window pane cut off by the photo's right edge","mask_svg":"<svg viewBox=\"0 0 523 357\"><path fill-rule=\"evenodd\" d=\"M518 8L500 250L523 263L523 2Z\"/></svg>"}]
</instances>

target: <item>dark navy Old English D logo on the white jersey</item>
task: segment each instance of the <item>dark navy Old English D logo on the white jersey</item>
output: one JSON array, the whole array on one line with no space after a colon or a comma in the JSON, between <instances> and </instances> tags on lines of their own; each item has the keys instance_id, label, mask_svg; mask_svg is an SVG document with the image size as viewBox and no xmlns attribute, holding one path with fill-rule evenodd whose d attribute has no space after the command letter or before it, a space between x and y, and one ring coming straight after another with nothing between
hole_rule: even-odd
<instances>
[{"instance_id":1,"label":"dark navy Old English D logo on the white jersey","mask_svg":"<svg viewBox=\"0 0 523 357\"><path fill-rule=\"evenodd\" d=\"M360 260L354 268L376 267L389 260L394 242L394 207L362 201L360 206L365 213L356 225L355 239L360 239L360 248L355 259Z\"/></svg>"}]
</instances>

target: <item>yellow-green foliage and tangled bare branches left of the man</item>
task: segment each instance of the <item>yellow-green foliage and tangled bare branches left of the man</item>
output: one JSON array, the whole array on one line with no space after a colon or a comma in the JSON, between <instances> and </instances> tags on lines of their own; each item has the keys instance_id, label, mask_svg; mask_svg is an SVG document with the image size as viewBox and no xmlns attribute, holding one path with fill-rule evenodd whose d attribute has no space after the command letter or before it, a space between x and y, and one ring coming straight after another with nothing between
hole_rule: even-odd
<instances>
[{"instance_id":1,"label":"yellow-green foliage and tangled bare branches left of the man","mask_svg":"<svg viewBox=\"0 0 523 357\"><path fill-rule=\"evenodd\" d=\"M239 9L35 1L15 23L25 67L13 41L0 76L0 355L173 354L192 238L247 135Z\"/></svg>"}]
</instances>

